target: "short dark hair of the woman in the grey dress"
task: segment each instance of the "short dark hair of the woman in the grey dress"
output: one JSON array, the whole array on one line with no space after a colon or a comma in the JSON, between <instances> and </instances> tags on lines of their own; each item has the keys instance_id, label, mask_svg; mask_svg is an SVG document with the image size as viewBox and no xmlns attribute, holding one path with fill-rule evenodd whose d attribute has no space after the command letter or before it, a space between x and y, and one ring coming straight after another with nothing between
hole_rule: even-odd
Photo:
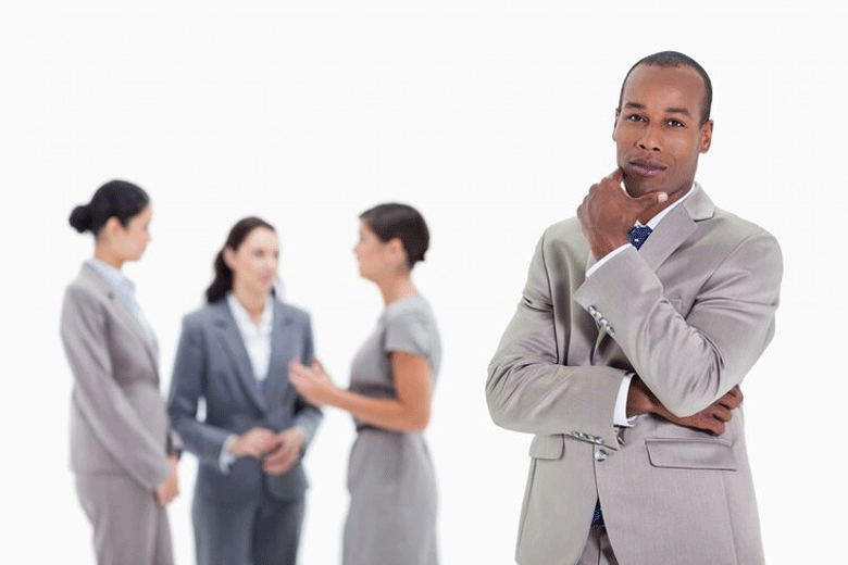
<instances>
[{"instance_id":1,"label":"short dark hair of the woman in the grey dress","mask_svg":"<svg viewBox=\"0 0 848 565\"><path fill-rule=\"evenodd\" d=\"M377 204L359 215L381 241L400 239L407 252L407 266L411 269L429 248L429 229L424 216L409 204L389 202Z\"/></svg>"}]
</instances>

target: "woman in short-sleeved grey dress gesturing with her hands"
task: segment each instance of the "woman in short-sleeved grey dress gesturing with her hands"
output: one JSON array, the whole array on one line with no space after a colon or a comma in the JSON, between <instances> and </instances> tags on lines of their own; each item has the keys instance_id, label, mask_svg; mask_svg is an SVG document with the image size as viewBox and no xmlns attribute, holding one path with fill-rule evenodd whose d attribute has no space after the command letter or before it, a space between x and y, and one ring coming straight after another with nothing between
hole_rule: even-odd
<instances>
[{"instance_id":1,"label":"woman in short-sleeved grey dress gesturing with her hands","mask_svg":"<svg viewBox=\"0 0 848 565\"><path fill-rule=\"evenodd\" d=\"M411 278L429 233L406 204L381 204L360 219L360 275L377 285L386 304L377 327L353 357L348 390L317 361L292 363L289 378L309 402L346 410L357 426L342 563L435 565L436 479L422 431L441 343L433 310Z\"/></svg>"}]
</instances>

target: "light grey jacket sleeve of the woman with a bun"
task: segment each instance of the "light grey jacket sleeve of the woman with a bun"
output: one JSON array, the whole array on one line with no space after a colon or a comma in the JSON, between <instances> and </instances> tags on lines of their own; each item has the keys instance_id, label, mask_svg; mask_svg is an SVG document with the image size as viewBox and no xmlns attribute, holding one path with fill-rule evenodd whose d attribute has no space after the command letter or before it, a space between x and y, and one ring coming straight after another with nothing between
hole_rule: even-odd
<instances>
[{"instance_id":1,"label":"light grey jacket sleeve of the woman with a bun","mask_svg":"<svg viewBox=\"0 0 848 565\"><path fill-rule=\"evenodd\" d=\"M74 374L74 402L103 448L145 489L170 475L165 438L145 427L113 376L108 313L83 289L70 287L62 307L62 342Z\"/></svg>"}]
</instances>

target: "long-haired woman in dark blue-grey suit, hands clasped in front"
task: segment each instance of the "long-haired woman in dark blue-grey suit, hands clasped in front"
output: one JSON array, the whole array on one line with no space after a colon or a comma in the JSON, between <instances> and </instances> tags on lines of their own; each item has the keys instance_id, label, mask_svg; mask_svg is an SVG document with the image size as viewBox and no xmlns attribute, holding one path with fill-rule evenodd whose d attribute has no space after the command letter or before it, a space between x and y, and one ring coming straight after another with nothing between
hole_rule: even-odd
<instances>
[{"instance_id":1,"label":"long-haired woman in dark blue-grey suit, hands clasped in front","mask_svg":"<svg viewBox=\"0 0 848 565\"><path fill-rule=\"evenodd\" d=\"M199 460L191 516L200 565L297 560L300 457L322 415L288 382L291 361L312 362L312 329L305 312L274 296L278 254L267 222L236 223L215 259L209 303L183 321L169 412Z\"/></svg>"}]
</instances>

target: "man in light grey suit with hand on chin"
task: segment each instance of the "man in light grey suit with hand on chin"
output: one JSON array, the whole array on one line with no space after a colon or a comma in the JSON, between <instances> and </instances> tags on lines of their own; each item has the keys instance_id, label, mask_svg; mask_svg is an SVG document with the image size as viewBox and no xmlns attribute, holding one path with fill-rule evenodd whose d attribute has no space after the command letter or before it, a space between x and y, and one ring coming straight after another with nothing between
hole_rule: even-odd
<instances>
[{"instance_id":1,"label":"man in light grey suit with hand on chin","mask_svg":"<svg viewBox=\"0 0 848 565\"><path fill-rule=\"evenodd\" d=\"M764 561L738 385L782 259L695 183L711 98L682 53L636 63L615 172L536 248L486 384L495 423L535 435L522 565Z\"/></svg>"}]
</instances>

